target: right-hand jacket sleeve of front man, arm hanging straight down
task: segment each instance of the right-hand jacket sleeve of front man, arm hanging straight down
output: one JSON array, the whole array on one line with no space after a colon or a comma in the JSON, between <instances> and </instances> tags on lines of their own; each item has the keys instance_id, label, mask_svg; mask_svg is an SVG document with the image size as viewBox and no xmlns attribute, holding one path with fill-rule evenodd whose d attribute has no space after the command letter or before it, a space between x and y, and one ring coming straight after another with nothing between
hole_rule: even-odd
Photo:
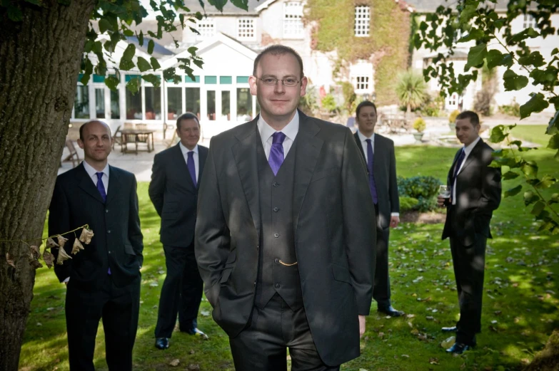
<instances>
[{"instance_id":1,"label":"right-hand jacket sleeve of front man, arm hanging straight down","mask_svg":"<svg viewBox=\"0 0 559 371\"><path fill-rule=\"evenodd\" d=\"M376 265L376 218L360 157L353 135L346 129L341 170L343 236L358 314L368 315Z\"/></svg>"}]
</instances>

